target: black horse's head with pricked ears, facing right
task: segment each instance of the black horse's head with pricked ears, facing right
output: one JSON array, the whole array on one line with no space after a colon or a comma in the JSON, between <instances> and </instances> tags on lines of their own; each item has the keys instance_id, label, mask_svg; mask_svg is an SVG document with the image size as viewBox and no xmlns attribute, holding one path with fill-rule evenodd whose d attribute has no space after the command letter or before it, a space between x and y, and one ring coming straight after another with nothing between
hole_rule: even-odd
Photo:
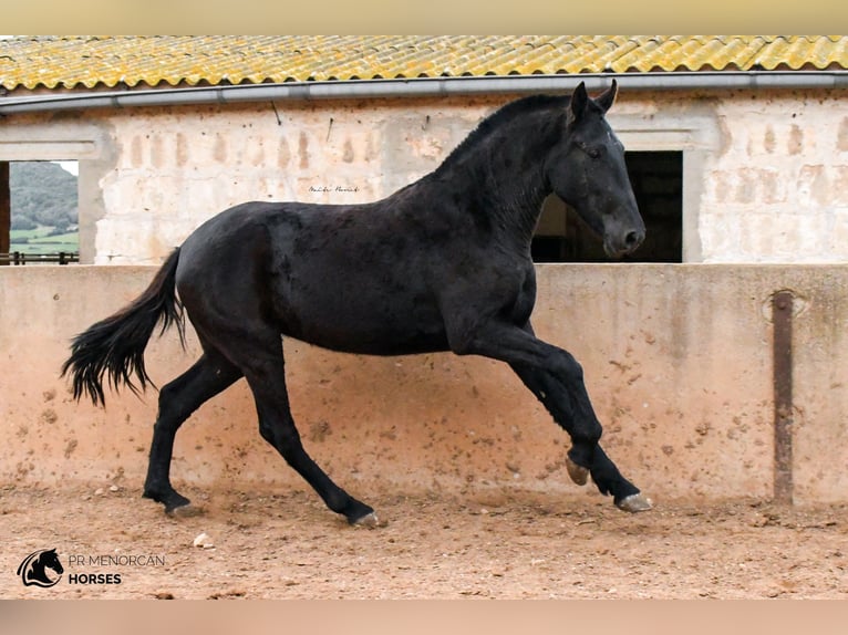
<instances>
[{"instance_id":1,"label":"black horse's head with pricked ears, facing right","mask_svg":"<svg viewBox=\"0 0 848 635\"><path fill-rule=\"evenodd\" d=\"M613 80L607 92L591 100L580 82L568 105L562 140L545 164L554 192L603 238L603 249L612 258L630 253L644 239L624 146L604 118L617 92Z\"/></svg>"}]
</instances>

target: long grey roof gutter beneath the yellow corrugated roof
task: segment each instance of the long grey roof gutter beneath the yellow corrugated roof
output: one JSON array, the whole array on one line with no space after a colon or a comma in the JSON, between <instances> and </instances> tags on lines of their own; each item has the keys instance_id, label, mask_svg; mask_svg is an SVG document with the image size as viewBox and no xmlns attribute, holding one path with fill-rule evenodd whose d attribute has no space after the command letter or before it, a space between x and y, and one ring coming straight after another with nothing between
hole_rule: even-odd
<instances>
[{"instance_id":1,"label":"long grey roof gutter beneath the yellow corrugated roof","mask_svg":"<svg viewBox=\"0 0 848 635\"><path fill-rule=\"evenodd\" d=\"M592 73L577 75L509 75L287 82L146 91L0 98L0 115L87 108L124 108L244 102L343 98L443 97L451 95L570 92L580 82L590 91L616 79L623 91L814 90L848 87L848 71L715 71L663 73Z\"/></svg>"}]
</instances>

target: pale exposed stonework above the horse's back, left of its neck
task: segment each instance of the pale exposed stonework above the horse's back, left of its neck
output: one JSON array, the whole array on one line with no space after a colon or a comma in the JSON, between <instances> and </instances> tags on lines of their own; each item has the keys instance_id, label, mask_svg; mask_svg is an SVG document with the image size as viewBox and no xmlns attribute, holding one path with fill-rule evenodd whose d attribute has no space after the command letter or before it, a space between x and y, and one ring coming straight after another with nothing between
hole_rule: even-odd
<instances>
[{"instance_id":1,"label":"pale exposed stonework above the horse's back, left of its neck","mask_svg":"<svg viewBox=\"0 0 848 635\"><path fill-rule=\"evenodd\" d=\"M247 200L382 198L435 168L486 112L467 102L322 102L114 119L117 163L100 181L94 260L157 262L203 220Z\"/></svg>"}]
</instances>

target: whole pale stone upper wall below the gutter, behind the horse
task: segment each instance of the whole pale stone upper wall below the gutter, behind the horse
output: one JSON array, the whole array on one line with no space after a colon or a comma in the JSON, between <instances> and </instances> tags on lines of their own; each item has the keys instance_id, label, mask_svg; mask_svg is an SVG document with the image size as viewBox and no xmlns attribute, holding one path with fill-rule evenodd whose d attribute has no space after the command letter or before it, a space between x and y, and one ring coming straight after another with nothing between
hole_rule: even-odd
<instances>
[{"instance_id":1,"label":"whole pale stone upper wall below the gutter, behind the horse","mask_svg":"<svg viewBox=\"0 0 848 635\"><path fill-rule=\"evenodd\" d=\"M245 200L358 202L436 167L498 97L135 108L0 121L0 159L80 160L85 262L157 263ZM844 91L622 92L630 150L682 150L687 262L848 260Z\"/></svg>"}]
</instances>

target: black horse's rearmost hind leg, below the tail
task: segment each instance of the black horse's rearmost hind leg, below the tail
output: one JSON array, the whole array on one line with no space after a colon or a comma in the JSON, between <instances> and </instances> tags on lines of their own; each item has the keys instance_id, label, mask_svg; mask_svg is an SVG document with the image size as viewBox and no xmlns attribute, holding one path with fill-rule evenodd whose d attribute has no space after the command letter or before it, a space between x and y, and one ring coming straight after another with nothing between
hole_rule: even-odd
<instances>
[{"instance_id":1,"label":"black horse's rearmost hind leg, below the tail","mask_svg":"<svg viewBox=\"0 0 848 635\"><path fill-rule=\"evenodd\" d=\"M189 500L170 485L170 458L179 426L200 405L241 377L241 372L216 352L207 351L188 371L162 387L159 414L153 427L144 496L172 513Z\"/></svg>"}]
</instances>

